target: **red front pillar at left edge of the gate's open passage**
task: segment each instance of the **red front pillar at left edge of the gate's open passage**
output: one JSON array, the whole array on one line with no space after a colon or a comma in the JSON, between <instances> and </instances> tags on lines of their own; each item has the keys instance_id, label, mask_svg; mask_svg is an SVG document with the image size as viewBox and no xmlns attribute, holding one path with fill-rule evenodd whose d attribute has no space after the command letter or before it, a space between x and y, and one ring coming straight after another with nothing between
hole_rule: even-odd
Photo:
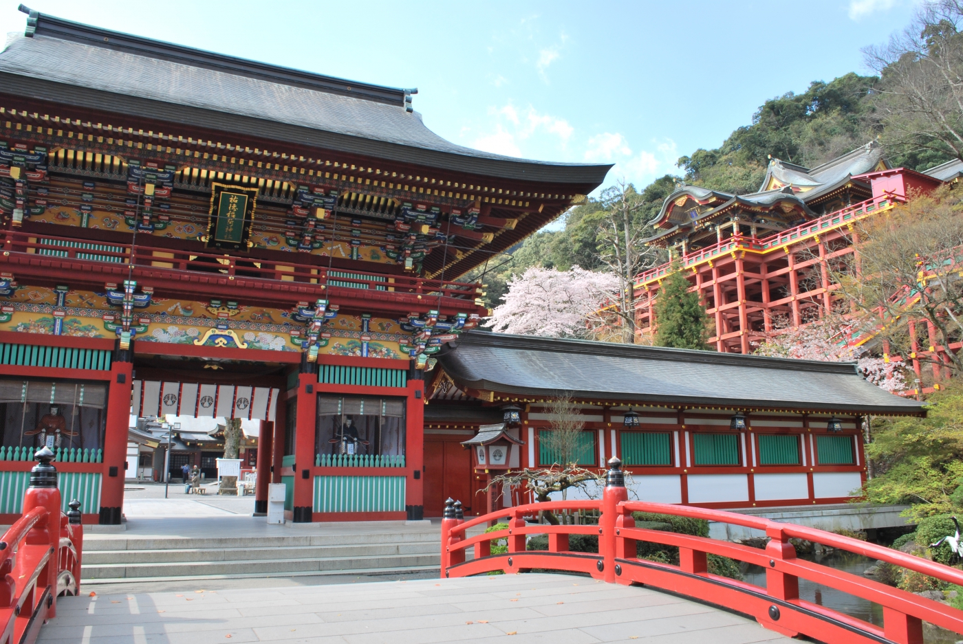
<instances>
[{"instance_id":1,"label":"red front pillar at left edge of the gate's open passage","mask_svg":"<svg viewBox=\"0 0 963 644\"><path fill-rule=\"evenodd\" d=\"M129 351L117 351L124 356ZM107 395L107 427L104 431L103 482L100 487L100 524L119 526L123 511L124 465L127 463L127 431L130 424L130 394L133 365L115 361ZM81 512L93 508L82 507Z\"/></svg>"}]
</instances>

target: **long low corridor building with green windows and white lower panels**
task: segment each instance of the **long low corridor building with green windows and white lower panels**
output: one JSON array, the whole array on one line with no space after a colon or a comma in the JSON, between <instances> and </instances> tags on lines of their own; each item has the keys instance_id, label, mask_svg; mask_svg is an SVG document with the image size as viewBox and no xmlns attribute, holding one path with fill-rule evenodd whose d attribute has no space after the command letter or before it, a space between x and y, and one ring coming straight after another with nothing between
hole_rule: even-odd
<instances>
[{"instance_id":1,"label":"long low corridor building with green windows and white lower panels","mask_svg":"<svg viewBox=\"0 0 963 644\"><path fill-rule=\"evenodd\" d=\"M559 462L546 441L554 419L547 407L569 398L585 424L579 465L618 456L639 500L729 508L858 497L864 419L925 415L923 403L872 385L854 363L475 330L448 343L438 363L427 387L425 453L429 465L439 451L430 442L444 444L445 478L439 486L426 472L426 512L448 496L471 514L487 511L478 490L492 473L475 465L457 480L448 444L475 434L470 423L500 420L508 405L521 407L513 438L524 443L508 448L509 467ZM517 491L502 498L529 501Z\"/></svg>"}]
</instances>

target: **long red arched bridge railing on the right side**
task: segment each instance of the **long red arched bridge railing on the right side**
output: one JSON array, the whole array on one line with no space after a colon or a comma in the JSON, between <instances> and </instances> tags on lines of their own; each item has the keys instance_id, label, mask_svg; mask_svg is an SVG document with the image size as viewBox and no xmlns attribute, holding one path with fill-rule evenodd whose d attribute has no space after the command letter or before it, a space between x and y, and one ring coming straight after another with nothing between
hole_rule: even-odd
<instances>
[{"instance_id":1,"label":"long red arched bridge railing on the right side","mask_svg":"<svg viewBox=\"0 0 963 644\"><path fill-rule=\"evenodd\" d=\"M665 503L630 502L621 462L609 461L602 501L562 501L519 505L464 521L448 504L441 528L443 577L467 577L492 571L507 574L532 569L586 573L610 583L640 583L700 602L719 605L755 618L772 631L805 635L828 644L896 642L923 644L923 622L963 633L963 611L930 599L828 566L799 559L791 538L863 554L938 580L963 585L963 572L911 554L816 528L783 524L760 517ZM598 526L545 526L526 523L540 510L599 510ZM633 512L654 512L706 519L764 531L765 550L728 541L635 527ZM467 537L466 530L508 517L508 529ZM547 534L547 551L526 551L526 536ZM598 536L599 552L568 550L570 534ZM491 541L508 540L508 553L491 554ZM636 542L677 546L679 565L639 559ZM474 558L466 558L467 550ZM719 554L766 568L766 586L732 580L708 572L706 554ZM799 599L799 579L874 602L883 607L883 628L845 613Z\"/></svg>"}]
</instances>

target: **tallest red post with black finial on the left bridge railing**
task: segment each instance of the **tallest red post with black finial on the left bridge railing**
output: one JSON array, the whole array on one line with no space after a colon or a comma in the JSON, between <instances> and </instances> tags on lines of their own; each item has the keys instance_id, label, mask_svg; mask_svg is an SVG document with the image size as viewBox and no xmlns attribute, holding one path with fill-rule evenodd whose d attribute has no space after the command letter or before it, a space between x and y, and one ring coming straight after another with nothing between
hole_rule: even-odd
<instances>
[{"instance_id":1,"label":"tallest red post with black finial on the left bridge railing","mask_svg":"<svg viewBox=\"0 0 963 644\"><path fill-rule=\"evenodd\" d=\"M51 465L54 452L44 446L34 454L39 463L30 471L30 487L23 495L23 513L26 514L35 507L42 507L47 511L27 534L27 543L35 546L48 545L50 556L47 558L43 570L37 579L41 588L50 588L51 605L47 610L48 617L57 616L57 574L60 566L60 516L61 497L57 489L57 468Z\"/></svg>"}]
</instances>

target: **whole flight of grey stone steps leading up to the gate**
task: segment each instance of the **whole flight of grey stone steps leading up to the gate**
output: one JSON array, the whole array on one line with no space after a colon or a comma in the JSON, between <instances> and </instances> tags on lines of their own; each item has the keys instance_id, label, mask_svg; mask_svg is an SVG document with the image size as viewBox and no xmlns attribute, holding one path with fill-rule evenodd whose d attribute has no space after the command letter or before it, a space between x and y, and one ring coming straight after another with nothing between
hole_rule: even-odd
<instances>
[{"instance_id":1,"label":"whole flight of grey stone steps leading up to the gate","mask_svg":"<svg viewBox=\"0 0 963 644\"><path fill-rule=\"evenodd\" d=\"M270 536L85 535L82 580L203 580L438 570L438 528ZM212 530L217 534L216 530Z\"/></svg>"}]
</instances>

